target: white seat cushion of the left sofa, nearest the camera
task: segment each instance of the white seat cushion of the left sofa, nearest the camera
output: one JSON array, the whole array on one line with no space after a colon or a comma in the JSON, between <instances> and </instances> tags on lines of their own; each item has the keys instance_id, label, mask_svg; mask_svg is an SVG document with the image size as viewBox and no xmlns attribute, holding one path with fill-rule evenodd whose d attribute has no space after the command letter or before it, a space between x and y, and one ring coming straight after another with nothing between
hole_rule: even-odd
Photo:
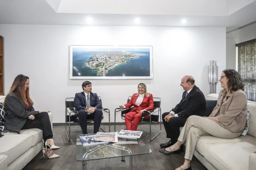
<instances>
[{"instance_id":1,"label":"white seat cushion of the left sofa, nearest the camera","mask_svg":"<svg viewBox=\"0 0 256 170\"><path fill-rule=\"evenodd\" d=\"M8 165L32 147L33 138L26 134L4 135L0 140L0 154L8 156Z\"/></svg>"}]
</instances>

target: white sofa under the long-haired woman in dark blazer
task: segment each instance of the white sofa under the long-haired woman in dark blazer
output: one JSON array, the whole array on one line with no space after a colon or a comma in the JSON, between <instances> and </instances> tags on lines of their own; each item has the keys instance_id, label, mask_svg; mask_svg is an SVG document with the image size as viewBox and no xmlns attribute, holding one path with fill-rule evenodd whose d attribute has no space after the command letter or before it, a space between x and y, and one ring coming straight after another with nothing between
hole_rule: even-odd
<instances>
[{"instance_id":1,"label":"white sofa under the long-haired woman in dark blazer","mask_svg":"<svg viewBox=\"0 0 256 170\"><path fill-rule=\"evenodd\" d=\"M4 102L5 96L0 96ZM52 125L52 113L48 113ZM42 151L43 137L40 129L21 130L21 134L7 132L0 137L0 170L22 170Z\"/></svg>"}]
</instances>

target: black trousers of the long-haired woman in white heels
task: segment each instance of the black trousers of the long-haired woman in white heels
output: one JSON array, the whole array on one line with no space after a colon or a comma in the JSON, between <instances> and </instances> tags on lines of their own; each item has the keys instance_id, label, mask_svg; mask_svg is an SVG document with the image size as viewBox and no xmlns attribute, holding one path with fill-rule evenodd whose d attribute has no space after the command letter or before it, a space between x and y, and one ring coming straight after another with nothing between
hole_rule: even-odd
<instances>
[{"instance_id":1,"label":"black trousers of the long-haired woman in white heels","mask_svg":"<svg viewBox=\"0 0 256 170\"><path fill-rule=\"evenodd\" d=\"M37 115L35 115L35 119L27 119L22 129L32 129L32 128L38 128L43 131L43 138L44 141L46 139L52 139L52 127L50 118L47 112L41 112Z\"/></svg>"}]
</instances>

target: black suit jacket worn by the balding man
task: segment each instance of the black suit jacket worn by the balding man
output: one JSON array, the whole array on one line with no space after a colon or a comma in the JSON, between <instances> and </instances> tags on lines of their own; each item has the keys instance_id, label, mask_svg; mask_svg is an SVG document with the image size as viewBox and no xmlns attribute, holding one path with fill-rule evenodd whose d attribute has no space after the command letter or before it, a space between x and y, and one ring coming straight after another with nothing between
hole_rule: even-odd
<instances>
[{"instance_id":1,"label":"black suit jacket worn by the balding man","mask_svg":"<svg viewBox=\"0 0 256 170\"><path fill-rule=\"evenodd\" d=\"M189 117L191 115L201 116L206 110L206 101L203 92L194 86L193 89L188 93L186 91L182 94L182 99L179 104L176 105L173 111L178 114L179 117Z\"/></svg>"}]
</instances>

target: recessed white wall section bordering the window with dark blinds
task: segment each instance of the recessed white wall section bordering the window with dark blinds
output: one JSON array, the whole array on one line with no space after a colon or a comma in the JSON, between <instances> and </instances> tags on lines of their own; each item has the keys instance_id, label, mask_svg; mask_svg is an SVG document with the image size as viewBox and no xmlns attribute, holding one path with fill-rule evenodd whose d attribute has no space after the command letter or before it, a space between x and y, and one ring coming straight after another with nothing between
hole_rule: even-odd
<instances>
[{"instance_id":1,"label":"recessed white wall section bordering the window with dark blinds","mask_svg":"<svg viewBox=\"0 0 256 170\"><path fill-rule=\"evenodd\" d=\"M256 24L249 25L240 30L229 32L227 34L226 63L227 68L236 69L236 47L235 44L252 40L256 38Z\"/></svg>"}]
</instances>

